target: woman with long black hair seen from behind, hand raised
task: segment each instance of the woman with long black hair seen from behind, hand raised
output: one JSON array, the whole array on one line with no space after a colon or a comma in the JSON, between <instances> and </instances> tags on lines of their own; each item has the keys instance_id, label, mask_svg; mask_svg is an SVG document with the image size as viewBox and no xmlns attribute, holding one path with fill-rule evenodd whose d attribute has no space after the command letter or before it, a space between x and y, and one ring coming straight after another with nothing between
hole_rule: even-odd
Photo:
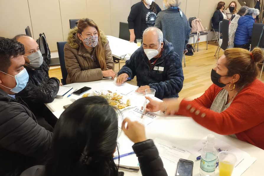
<instances>
[{"instance_id":1,"label":"woman with long black hair seen from behind, hand raised","mask_svg":"<svg viewBox=\"0 0 264 176\"><path fill-rule=\"evenodd\" d=\"M144 126L125 119L122 129L135 143L142 175L167 176L156 146L146 140ZM99 96L76 100L56 123L48 163L21 176L118 176L113 160L117 137L118 115L107 100Z\"/></svg>"}]
</instances>

